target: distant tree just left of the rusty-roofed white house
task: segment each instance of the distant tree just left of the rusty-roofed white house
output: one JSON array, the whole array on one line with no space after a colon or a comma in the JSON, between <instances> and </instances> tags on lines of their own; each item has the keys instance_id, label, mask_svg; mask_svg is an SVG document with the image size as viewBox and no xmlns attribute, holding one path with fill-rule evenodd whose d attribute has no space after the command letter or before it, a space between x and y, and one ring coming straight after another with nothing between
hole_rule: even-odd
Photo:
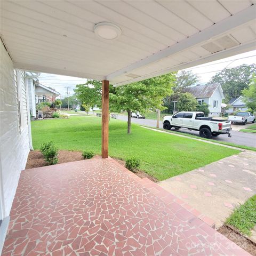
<instances>
[{"instance_id":1,"label":"distant tree just left of the rusty-roofed white house","mask_svg":"<svg viewBox=\"0 0 256 256\"><path fill-rule=\"evenodd\" d=\"M166 113L173 112L173 101L178 101L179 97L186 87L189 87L199 81L199 78L192 71L181 70L176 75L176 81L173 87L173 93L164 99L164 106L166 107Z\"/></svg>"}]
</instances>

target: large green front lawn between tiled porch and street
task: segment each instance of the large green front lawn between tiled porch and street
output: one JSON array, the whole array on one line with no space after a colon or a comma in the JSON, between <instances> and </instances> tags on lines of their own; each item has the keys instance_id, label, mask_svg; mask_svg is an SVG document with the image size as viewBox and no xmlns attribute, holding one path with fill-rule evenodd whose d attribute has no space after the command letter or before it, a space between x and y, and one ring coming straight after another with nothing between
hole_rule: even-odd
<instances>
[{"instance_id":1,"label":"large green front lawn between tiled porch and street","mask_svg":"<svg viewBox=\"0 0 256 256\"><path fill-rule=\"evenodd\" d=\"M194 170L239 151L209 143L170 136L132 124L126 134L124 121L110 119L109 155L127 159L141 159L141 170L158 180ZM101 153L101 118L71 116L69 119L48 119L31 122L33 145L39 149L46 141L53 141L59 149L89 149Z\"/></svg>"}]
</instances>

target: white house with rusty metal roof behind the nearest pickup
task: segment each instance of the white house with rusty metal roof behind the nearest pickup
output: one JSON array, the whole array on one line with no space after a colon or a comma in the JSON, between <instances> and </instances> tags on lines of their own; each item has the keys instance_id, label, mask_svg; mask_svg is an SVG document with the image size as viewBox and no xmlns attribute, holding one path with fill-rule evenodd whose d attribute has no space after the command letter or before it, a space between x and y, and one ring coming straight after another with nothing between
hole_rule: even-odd
<instances>
[{"instance_id":1,"label":"white house with rusty metal roof behind the nearest pickup","mask_svg":"<svg viewBox=\"0 0 256 256\"><path fill-rule=\"evenodd\" d=\"M220 116L221 102L225 98L220 84L212 83L191 86L185 88L183 92L193 94L199 105L202 105L202 103L209 105L209 116Z\"/></svg>"}]
</instances>

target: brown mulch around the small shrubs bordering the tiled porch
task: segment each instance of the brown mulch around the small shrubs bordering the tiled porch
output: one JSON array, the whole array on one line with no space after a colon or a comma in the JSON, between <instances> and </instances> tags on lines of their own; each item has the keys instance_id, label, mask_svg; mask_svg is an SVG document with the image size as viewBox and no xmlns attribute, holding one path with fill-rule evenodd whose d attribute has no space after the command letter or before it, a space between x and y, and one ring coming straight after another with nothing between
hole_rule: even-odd
<instances>
[{"instance_id":1,"label":"brown mulch around the small shrubs bordering the tiled porch","mask_svg":"<svg viewBox=\"0 0 256 256\"><path fill-rule=\"evenodd\" d=\"M99 155L94 156L95 157L100 157ZM67 150L59 150L58 152L58 159L59 162L58 164L63 164L63 163L68 163L68 162L74 162L74 161L80 161L83 160L84 158L82 157L82 152L81 151L67 151ZM125 166L125 161L116 159L114 158L119 164L122 164ZM26 164L26 169L31 169L31 168L37 168L37 167L43 167L47 166L48 164L44 161L43 154L38 151L30 151L28 155L28 160ZM136 175L138 175L141 179L142 178L148 178L151 181L157 182L158 180L154 177L151 177L149 174L146 172L138 170L135 172Z\"/></svg>"}]
</instances>

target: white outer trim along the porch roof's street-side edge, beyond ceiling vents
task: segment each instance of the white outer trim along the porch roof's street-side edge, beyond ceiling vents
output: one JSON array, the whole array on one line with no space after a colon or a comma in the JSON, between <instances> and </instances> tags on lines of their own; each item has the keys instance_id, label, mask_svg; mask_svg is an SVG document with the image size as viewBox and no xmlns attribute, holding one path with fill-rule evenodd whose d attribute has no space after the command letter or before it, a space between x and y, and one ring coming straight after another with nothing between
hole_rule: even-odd
<instances>
[{"instance_id":1,"label":"white outer trim along the porch roof's street-side edge, beyond ceiling vents","mask_svg":"<svg viewBox=\"0 0 256 256\"><path fill-rule=\"evenodd\" d=\"M171 73L171 72L174 72L174 71L178 71L178 70L182 70L182 69L202 65L202 64L207 63L207 62L227 58L227 57L230 57L230 56L233 56L233 55L236 55L236 54L240 54L240 53L244 53L244 52L248 52L248 51L252 51L252 50L255 50L255 41L247 43L247 44L243 44L243 45L238 45L236 47L233 47L232 49L227 49L227 50L223 50L221 52L213 53L209 56L201 57L201 58L199 58L197 60L194 60L194 61L191 61L189 63L177 65L177 66L174 66L172 68L162 69L162 70L150 73L150 74L145 75L145 76L140 76L138 78L129 79L129 80L121 82L121 83L116 83L115 86L121 86L121 85L125 85L125 84L130 84L130 83L142 81L144 79L148 79L148 78L151 78L151 77L160 76L160 75L163 75L163 74L166 74L166 73Z\"/></svg>"}]
</instances>

